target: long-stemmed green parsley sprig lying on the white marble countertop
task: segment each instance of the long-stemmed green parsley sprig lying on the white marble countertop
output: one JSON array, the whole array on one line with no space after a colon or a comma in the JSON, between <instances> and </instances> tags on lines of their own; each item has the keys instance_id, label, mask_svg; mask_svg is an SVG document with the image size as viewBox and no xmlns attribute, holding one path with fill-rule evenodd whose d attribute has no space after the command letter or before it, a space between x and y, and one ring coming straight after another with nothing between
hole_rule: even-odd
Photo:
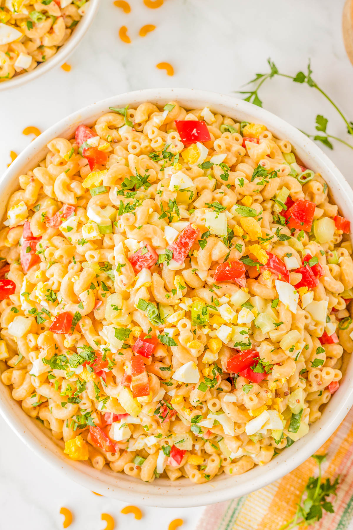
<instances>
[{"instance_id":1,"label":"long-stemmed green parsley sprig lying on the white marble countertop","mask_svg":"<svg viewBox=\"0 0 353 530\"><path fill-rule=\"evenodd\" d=\"M276 75L280 77L287 77L288 79L291 79L294 83L300 83L300 84L305 83L309 85L310 87L312 87L313 89L316 89L318 92L320 92L320 94L322 94L324 98L327 99L329 103L331 103L333 108L336 109L336 111L339 113L340 117L346 124L348 134L353 135L353 122L349 121L346 118L346 116L339 109L337 104L334 103L334 101L332 101L330 96L324 90L322 90L320 86L313 80L312 75L311 75L313 72L311 69L310 60L309 60L309 63L307 64L307 72L304 73L300 71L294 76L280 73L278 71L277 66L271 59L267 59L267 63L270 67L269 72L267 72L266 74L256 74L254 79L249 81L249 83L246 83L246 85L254 84L255 89L248 90L248 91L239 91L240 94L246 95L246 97L244 98L245 101L254 103L254 105L258 105L258 107L262 107L263 102L260 100L259 95L258 95L258 91L260 87L265 83L265 81L267 81L268 79L272 79ZM323 145L329 147L329 149L333 149L333 145L330 142L329 138L333 140L337 140L337 142L340 142L341 144L345 144L347 147L350 147L350 149L353 149L353 145L349 144L345 140L342 140L342 138L338 138L337 136L333 136L327 132L327 125L328 125L327 118L324 118L321 114L318 114L318 116L316 116L315 123L316 123L316 126L315 126L316 131L318 131L319 133L323 133L323 134L311 135L311 134L304 133L304 131L302 131L302 133L304 133L309 138L313 138L313 140L316 140L317 142L321 142Z\"/></svg>"}]
</instances>

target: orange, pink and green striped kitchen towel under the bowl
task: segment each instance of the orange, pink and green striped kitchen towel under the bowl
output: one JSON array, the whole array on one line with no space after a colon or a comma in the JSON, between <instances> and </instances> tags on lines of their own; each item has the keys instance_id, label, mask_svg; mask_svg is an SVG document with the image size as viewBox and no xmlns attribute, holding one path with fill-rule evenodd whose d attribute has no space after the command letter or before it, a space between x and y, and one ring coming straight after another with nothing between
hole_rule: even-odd
<instances>
[{"instance_id":1,"label":"orange, pink and green striped kitchen towel under the bowl","mask_svg":"<svg viewBox=\"0 0 353 530\"><path fill-rule=\"evenodd\" d=\"M340 475L334 513L324 512L312 530L353 530L353 409L318 454L328 453L323 477ZM219 502L205 509L196 530L278 530L295 514L296 504L318 465L309 458L294 471L247 496ZM331 499L330 499L331 500ZM304 527L300 527L304 528ZM307 527L305 527L307 528Z\"/></svg>"}]
</instances>

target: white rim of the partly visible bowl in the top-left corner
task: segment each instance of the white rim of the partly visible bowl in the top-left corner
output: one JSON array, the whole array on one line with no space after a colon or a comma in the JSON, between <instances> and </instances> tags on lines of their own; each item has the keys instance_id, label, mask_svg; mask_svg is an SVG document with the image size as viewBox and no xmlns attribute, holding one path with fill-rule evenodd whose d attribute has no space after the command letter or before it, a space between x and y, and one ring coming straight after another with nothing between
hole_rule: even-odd
<instances>
[{"instance_id":1,"label":"white rim of the partly visible bowl in the top-left corner","mask_svg":"<svg viewBox=\"0 0 353 530\"><path fill-rule=\"evenodd\" d=\"M100 3L101 0L89 0L89 8L87 13L79 21L65 44L60 46L56 54L48 59L45 63L39 64L31 72L15 75L10 80L0 83L0 92L8 89L14 89L17 86L29 83L30 81L37 79L37 77L40 75L49 72L49 70L55 66L64 64L66 59L72 54L72 52L84 38L86 32L93 22L94 17L97 14Z\"/></svg>"}]
</instances>

